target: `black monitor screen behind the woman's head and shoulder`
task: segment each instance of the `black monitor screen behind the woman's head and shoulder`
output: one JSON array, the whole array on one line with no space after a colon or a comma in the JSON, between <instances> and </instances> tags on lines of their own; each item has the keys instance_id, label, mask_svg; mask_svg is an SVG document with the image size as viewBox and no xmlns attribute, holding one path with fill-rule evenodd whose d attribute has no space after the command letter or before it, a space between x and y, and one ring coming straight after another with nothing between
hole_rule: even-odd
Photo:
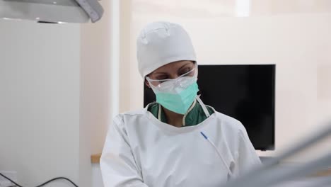
<instances>
[{"instance_id":1,"label":"black monitor screen behind the woman's head and shoulder","mask_svg":"<svg viewBox=\"0 0 331 187\"><path fill-rule=\"evenodd\" d=\"M245 126L255 149L274 149L275 65L199 65L199 93L204 104ZM144 106L155 101L144 88Z\"/></svg>"}]
</instances>

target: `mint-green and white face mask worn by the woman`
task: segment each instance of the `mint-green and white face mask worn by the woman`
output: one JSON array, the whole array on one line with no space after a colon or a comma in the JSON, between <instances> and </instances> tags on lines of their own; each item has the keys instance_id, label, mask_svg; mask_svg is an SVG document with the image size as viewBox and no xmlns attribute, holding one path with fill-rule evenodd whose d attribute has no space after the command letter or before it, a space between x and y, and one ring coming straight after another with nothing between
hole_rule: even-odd
<instances>
[{"instance_id":1,"label":"mint-green and white face mask worn by the woman","mask_svg":"<svg viewBox=\"0 0 331 187\"><path fill-rule=\"evenodd\" d=\"M197 74L193 77L178 77L158 86L151 85L156 94L156 102L175 113L185 114L197 96Z\"/></svg>"}]
</instances>

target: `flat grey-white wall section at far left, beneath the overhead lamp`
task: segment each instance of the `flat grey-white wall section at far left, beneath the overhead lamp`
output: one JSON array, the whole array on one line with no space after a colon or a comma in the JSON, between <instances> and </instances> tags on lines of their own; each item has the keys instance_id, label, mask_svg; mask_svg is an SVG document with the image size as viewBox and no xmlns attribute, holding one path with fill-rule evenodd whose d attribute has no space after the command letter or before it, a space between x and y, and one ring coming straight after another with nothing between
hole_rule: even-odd
<instances>
[{"instance_id":1,"label":"flat grey-white wall section at far left, beneath the overhead lamp","mask_svg":"<svg viewBox=\"0 0 331 187\"><path fill-rule=\"evenodd\" d=\"M79 69L78 24L0 20L0 170L23 186L79 181Z\"/></svg>"}]
</instances>

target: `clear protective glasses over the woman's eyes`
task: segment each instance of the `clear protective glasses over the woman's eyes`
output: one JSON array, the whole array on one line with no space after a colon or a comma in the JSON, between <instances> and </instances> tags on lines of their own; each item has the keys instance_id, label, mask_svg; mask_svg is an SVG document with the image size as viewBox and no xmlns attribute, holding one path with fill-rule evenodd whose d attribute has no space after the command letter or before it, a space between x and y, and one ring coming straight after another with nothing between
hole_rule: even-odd
<instances>
[{"instance_id":1,"label":"clear protective glasses over the woman's eyes","mask_svg":"<svg viewBox=\"0 0 331 187\"><path fill-rule=\"evenodd\" d=\"M189 72L180 75L180 77L177 77L176 79L150 79L149 77L146 77L146 80L149 81L149 84L151 86L161 88L161 87L168 87L170 85L173 85L176 82L179 82L180 79L196 77L196 75L197 75L197 67L195 66Z\"/></svg>"}]
</instances>

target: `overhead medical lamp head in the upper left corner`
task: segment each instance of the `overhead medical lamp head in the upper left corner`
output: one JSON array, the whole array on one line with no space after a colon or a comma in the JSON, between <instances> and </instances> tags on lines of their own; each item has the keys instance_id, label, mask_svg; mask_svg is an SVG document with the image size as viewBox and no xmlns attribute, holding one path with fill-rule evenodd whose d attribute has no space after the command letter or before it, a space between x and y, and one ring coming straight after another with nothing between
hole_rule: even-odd
<instances>
[{"instance_id":1,"label":"overhead medical lamp head in the upper left corner","mask_svg":"<svg viewBox=\"0 0 331 187\"><path fill-rule=\"evenodd\" d=\"M103 16L98 0L0 0L0 18L38 23L94 23Z\"/></svg>"}]
</instances>

